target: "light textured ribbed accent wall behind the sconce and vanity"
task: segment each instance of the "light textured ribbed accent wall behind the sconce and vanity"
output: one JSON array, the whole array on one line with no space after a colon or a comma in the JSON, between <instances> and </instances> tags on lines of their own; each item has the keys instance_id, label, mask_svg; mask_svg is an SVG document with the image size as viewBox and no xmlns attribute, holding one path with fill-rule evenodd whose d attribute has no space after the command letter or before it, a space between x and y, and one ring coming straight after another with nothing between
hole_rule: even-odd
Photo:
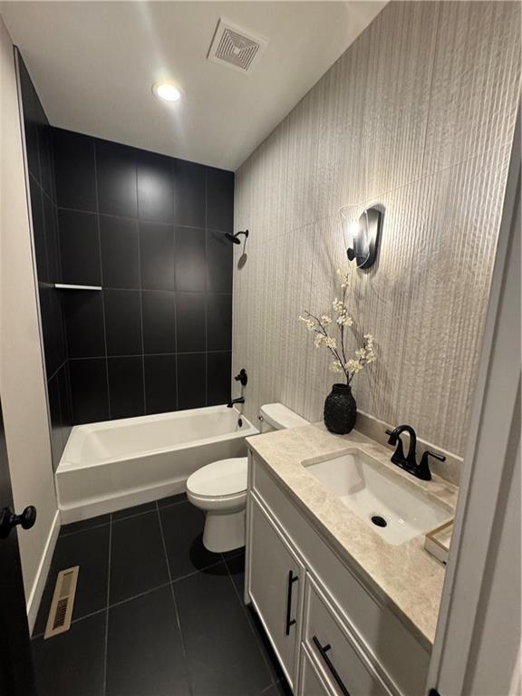
<instances>
[{"instance_id":1,"label":"light textured ribbed accent wall behind the sconce and vanity","mask_svg":"<svg viewBox=\"0 0 522 696\"><path fill-rule=\"evenodd\" d=\"M236 175L233 373L246 415L320 420L335 376L296 317L351 268L361 411L464 451L520 85L517 3L391 3ZM386 208L379 263L348 266L339 209ZM243 256L242 256L243 255ZM241 257L242 256L242 257Z\"/></svg>"}]
</instances>

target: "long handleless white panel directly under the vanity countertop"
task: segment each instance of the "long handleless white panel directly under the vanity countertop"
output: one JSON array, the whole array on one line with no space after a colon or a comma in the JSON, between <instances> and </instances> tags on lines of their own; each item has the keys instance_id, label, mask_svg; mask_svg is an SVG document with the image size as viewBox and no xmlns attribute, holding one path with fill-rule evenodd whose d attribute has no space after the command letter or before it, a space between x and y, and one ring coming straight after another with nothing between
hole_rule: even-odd
<instances>
[{"instance_id":1,"label":"long handleless white panel directly under the vanity countertop","mask_svg":"<svg viewBox=\"0 0 522 696\"><path fill-rule=\"evenodd\" d=\"M430 653L378 596L353 573L324 536L318 533L271 469L250 453L250 488L256 491L304 565L328 588L363 649L382 665L395 691L404 696L424 692Z\"/></svg>"}]
</instances>

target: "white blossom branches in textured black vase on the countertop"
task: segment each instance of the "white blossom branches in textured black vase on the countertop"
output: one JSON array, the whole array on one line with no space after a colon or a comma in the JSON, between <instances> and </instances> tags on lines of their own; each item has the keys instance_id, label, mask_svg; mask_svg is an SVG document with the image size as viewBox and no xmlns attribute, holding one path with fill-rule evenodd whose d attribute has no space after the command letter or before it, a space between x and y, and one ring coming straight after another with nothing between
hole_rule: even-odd
<instances>
[{"instance_id":1,"label":"white blossom branches in textured black vase on the countertop","mask_svg":"<svg viewBox=\"0 0 522 696\"><path fill-rule=\"evenodd\" d=\"M333 300L333 317L329 314L322 314L318 317L310 312L305 312L299 316L299 321L306 326L309 332L314 333L316 348L324 346L332 353L333 362L330 363L330 369L333 372L343 373L346 379L345 384L333 384L333 390L324 402L326 427L332 432L344 434L353 429L357 417L356 404L350 388L353 377L363 367L373 362L376 356L373 349L373 336L371 333L365 333L361 348L355 351L353 357L346 357L346 334L353 325L353 319L348 314L346 306L348 276L343 274L339 268L337 275L341 281L342 295L341 299L335 297Z\"/></svg>"}]
</instances>

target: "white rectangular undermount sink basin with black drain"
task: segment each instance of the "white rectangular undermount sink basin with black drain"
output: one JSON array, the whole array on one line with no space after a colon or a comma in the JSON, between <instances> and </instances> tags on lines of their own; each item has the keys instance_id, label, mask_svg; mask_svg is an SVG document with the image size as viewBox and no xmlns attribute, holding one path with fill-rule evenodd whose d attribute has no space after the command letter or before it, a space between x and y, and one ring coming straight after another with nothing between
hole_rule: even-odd
<instances>
[{"instance_id":1,"label":"white rectangular undermount sink basin with black drain","mask_svg":"<svg viewBox=\"0 0 522 696\"><path fill-rule=\"evenodd\" d=\"M389 544L402 544L451 517L449 510L402 482L361 449L319 463L304 461L303 466Z\"/></svg>"}]
</instances>

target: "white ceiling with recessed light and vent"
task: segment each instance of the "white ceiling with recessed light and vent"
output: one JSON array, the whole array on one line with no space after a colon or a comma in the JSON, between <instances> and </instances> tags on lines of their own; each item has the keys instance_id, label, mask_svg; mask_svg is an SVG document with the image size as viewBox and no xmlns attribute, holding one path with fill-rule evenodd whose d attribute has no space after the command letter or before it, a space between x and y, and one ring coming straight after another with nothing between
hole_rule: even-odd
<instances>
[{"instance_id":1,"label":"white ceiling with recessed light and vent","mask_svg":"<svg viewBox=\"0 0 522 696\"><path fill-rule=\"evenodd\" d=\"M55 126L237 169L384 2L5 2ZM251 74L207 60L218 19L268 45ZM153 82L181 89L160 102Z\"/></svg>"}]
</instances>

